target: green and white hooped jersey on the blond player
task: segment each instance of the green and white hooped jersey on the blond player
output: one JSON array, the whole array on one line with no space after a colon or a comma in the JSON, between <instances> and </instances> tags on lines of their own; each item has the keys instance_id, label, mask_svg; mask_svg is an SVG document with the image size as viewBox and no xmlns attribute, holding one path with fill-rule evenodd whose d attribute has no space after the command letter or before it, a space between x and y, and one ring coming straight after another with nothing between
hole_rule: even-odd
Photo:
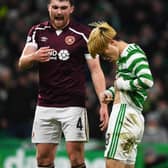
<instances>
[{"instance_id":1,"label":"green and white hooped jersey on the blond player","mask_svg":"<svg viewBox=\"0 0 168 168\"><path fill-rule=\"evenodd\" d=\"M117 61L116 80L120 85L121 103L129 104L138 110L143 109L147 89L153 86L153 77L144 51L136 44L128 44ZM115 95L114 87L110 90Z\"/></svg>"}]
</instances>

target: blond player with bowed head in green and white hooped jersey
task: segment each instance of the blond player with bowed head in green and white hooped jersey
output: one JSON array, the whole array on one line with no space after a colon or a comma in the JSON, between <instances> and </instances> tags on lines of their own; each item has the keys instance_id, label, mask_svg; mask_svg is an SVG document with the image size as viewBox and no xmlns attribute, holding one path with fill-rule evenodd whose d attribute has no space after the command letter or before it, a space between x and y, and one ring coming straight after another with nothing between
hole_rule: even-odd
<instances>
[{"instance_id":1,"label":"blond player with bowed head in green and white hooped jersey","mask_svg":"<svg viewBox=\"0 0 168 168\"><path fill-rule=\"evenodd\" d=\"M106 132L106 168L134 168L137 145L144 131L143 105L153 77L147 57L137 44L118 40L115 29L106 22L93 26L89 52L117 65L114 86L100 94L104 103L113 100Z\"/></svg>"}]
</instances>

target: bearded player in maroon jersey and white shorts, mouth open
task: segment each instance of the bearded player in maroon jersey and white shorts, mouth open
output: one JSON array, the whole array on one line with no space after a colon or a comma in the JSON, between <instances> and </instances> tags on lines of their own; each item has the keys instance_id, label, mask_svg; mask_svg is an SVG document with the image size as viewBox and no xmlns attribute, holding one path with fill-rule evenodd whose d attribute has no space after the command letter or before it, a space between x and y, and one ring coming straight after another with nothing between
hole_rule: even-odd
<instances>
[{"instance_id":1,"label":"bearded player in maroon jersey and white shorts, mouth open","mask_svg":"<svg viewBox=\"0 0 168 168\"><path fill-rule=\"evenodd\" d=\"M19 59L19 68L39 63L39 94L32 130L38 168L54 168L55 152L63 132L72 168L85 168L88 140L85 108L85 64L99 97L105 89L99 58L87 50L90 28L70 19L73 0L49 0L50 20L33 26ZM100 102L100 128L108 123L107 105Z\"/></svg>"}]
</instances>

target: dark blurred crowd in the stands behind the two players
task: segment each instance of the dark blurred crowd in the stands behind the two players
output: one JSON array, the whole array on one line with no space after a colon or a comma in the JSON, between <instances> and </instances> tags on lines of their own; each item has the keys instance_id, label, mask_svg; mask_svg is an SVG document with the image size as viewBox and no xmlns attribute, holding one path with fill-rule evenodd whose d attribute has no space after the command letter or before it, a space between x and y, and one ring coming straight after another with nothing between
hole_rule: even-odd
<instances>
[{"instance_id":1,"label":"dark blurred crowd in the stands behind the two players","mask_svg":"<svg viewBox=\"0 0 168 168\"><path fill-rule=\"evenodd\" d=\"M20 72L17 61L29 28L48 19L45 0L0 0L0 136L27 138L31 134L37 97L36 68ZM149 90L144 116L144 142L168 142L168 1L80 0L73 17L82 23L107 21L119 36L138 43L146 52L155 85ZM102 61L107 86L113 84L114 66ZM91 138L102 139L98 101L87 75L87 108ZM109 111L111 104L109 105Z\"/></svg>"}]
</instances>

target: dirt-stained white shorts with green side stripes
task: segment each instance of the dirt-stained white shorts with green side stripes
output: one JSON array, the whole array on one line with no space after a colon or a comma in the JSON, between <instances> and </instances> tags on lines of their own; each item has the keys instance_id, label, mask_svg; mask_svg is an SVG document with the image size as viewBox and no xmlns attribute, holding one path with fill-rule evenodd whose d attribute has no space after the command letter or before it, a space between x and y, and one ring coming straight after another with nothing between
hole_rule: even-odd
<instances>
[{"instance_id":1,"label":"dirt-stained white shorts with green side stripes","mask_svg":"<svg viewBox=\"0 0 168 168\"><path fill-rule=\"evenodd\" d=\"M106 132L106 158L135 164L137 145L144 132L144 117L126 104L114 104Z\"/></svg>"}]
</instances>

